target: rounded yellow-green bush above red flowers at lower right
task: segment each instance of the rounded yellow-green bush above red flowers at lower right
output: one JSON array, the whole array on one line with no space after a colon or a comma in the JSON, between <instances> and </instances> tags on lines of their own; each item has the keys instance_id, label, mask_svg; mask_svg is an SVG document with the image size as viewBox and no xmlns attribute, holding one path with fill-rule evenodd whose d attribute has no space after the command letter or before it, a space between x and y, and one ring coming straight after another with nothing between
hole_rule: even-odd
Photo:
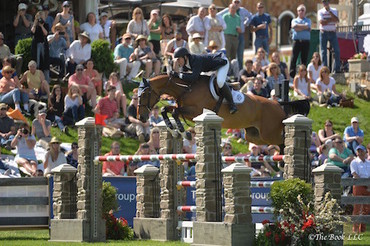
<instances>
[{"instance_id":1,"label":"rounded yellow-green bush above red flowers at lower right","mask_svg":"<svg viewBox=\"0 0 370 246\"><path fill-rule=\"evenodd\" d=\"M271 186L270 196L272 206L275 208L275 214L280 214L281 209L285 211L289 209L299 211L298 195L300 195L304 204L312 201L313 192L311 185L298 178L274 182Z\"/></svg>"}]
</instances>

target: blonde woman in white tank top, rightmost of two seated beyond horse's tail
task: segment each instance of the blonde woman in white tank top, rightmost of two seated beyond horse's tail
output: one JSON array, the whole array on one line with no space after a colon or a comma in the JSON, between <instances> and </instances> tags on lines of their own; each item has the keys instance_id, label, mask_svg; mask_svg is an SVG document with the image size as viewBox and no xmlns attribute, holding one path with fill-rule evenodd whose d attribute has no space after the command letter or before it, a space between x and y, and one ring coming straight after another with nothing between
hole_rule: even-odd
<instances>
[{"instance_id":1,"label":"blonde woman in white tank top, rightmost of two seated beyond horse's tail","mask_svg":"<svg viewBox=\"0 0 370 246\"><path fill-rule=\"evenodd\" d=\"M317 96L320 104L335 105L338 104L342 96L335 88L335 80L330 76L328 67L323 66L320 70L320 76L316 80Z\"/></svg>"}]
</instances>

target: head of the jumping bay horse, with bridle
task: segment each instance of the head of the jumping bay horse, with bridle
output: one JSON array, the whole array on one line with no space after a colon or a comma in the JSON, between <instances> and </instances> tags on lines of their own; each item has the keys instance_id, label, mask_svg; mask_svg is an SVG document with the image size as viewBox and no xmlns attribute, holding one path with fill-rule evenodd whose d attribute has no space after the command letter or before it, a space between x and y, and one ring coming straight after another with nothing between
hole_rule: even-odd
<instances>
[{"instance_id":1,"label":"head of the jumping bay horse, with bridle","mask_svg":"<svg viewBox=\"0 0 370 246\"><path fill-rule=\"evenodd\" d=\"M158 102L159 95L152 89L150 82L146 79L139 85L139 120L146 122L149 118L149 113L152 110L153 106Z\"/></svg>"}]
</instances>

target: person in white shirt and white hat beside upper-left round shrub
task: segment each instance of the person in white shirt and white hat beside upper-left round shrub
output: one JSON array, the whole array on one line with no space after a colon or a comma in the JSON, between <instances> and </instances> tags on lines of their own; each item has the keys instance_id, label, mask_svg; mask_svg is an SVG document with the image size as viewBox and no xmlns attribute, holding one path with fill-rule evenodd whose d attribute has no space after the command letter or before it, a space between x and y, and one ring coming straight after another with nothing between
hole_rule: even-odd
<instances>
[{"instance_id":1,"label":"person in white shirt and white hat beside upper-left round shrub","mask_svg":"<svg viewBox=\"0 0 370 246\"><path fill-rule=\"evenodd\" d=\"M90 35L87 32L80 33L78 40L73 41L69 47L67 72L74 74L78 64L84 64L91 58Z\"/></svg>"}]
</instances>

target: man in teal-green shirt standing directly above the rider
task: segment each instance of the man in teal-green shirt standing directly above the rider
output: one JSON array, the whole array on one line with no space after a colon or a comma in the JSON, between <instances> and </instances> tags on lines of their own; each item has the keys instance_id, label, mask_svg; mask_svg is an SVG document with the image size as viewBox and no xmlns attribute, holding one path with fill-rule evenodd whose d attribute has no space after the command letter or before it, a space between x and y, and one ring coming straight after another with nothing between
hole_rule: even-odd
<instances>
[{"instance_id":1,"label":"man in teal-green shirt standing directly above the rider","mask_svg":"<svg viewBox=\"0 0 370 246\"><path fill-rule=\"evenodd\" d=\"M229 12L222 17L226 23L225 41L226 41L226 56L229 61L235 59L239 44L239 34L242 32L240 28L240 16L236 14L236 5L229 5Z\"/></svg>"}]
</instances>

